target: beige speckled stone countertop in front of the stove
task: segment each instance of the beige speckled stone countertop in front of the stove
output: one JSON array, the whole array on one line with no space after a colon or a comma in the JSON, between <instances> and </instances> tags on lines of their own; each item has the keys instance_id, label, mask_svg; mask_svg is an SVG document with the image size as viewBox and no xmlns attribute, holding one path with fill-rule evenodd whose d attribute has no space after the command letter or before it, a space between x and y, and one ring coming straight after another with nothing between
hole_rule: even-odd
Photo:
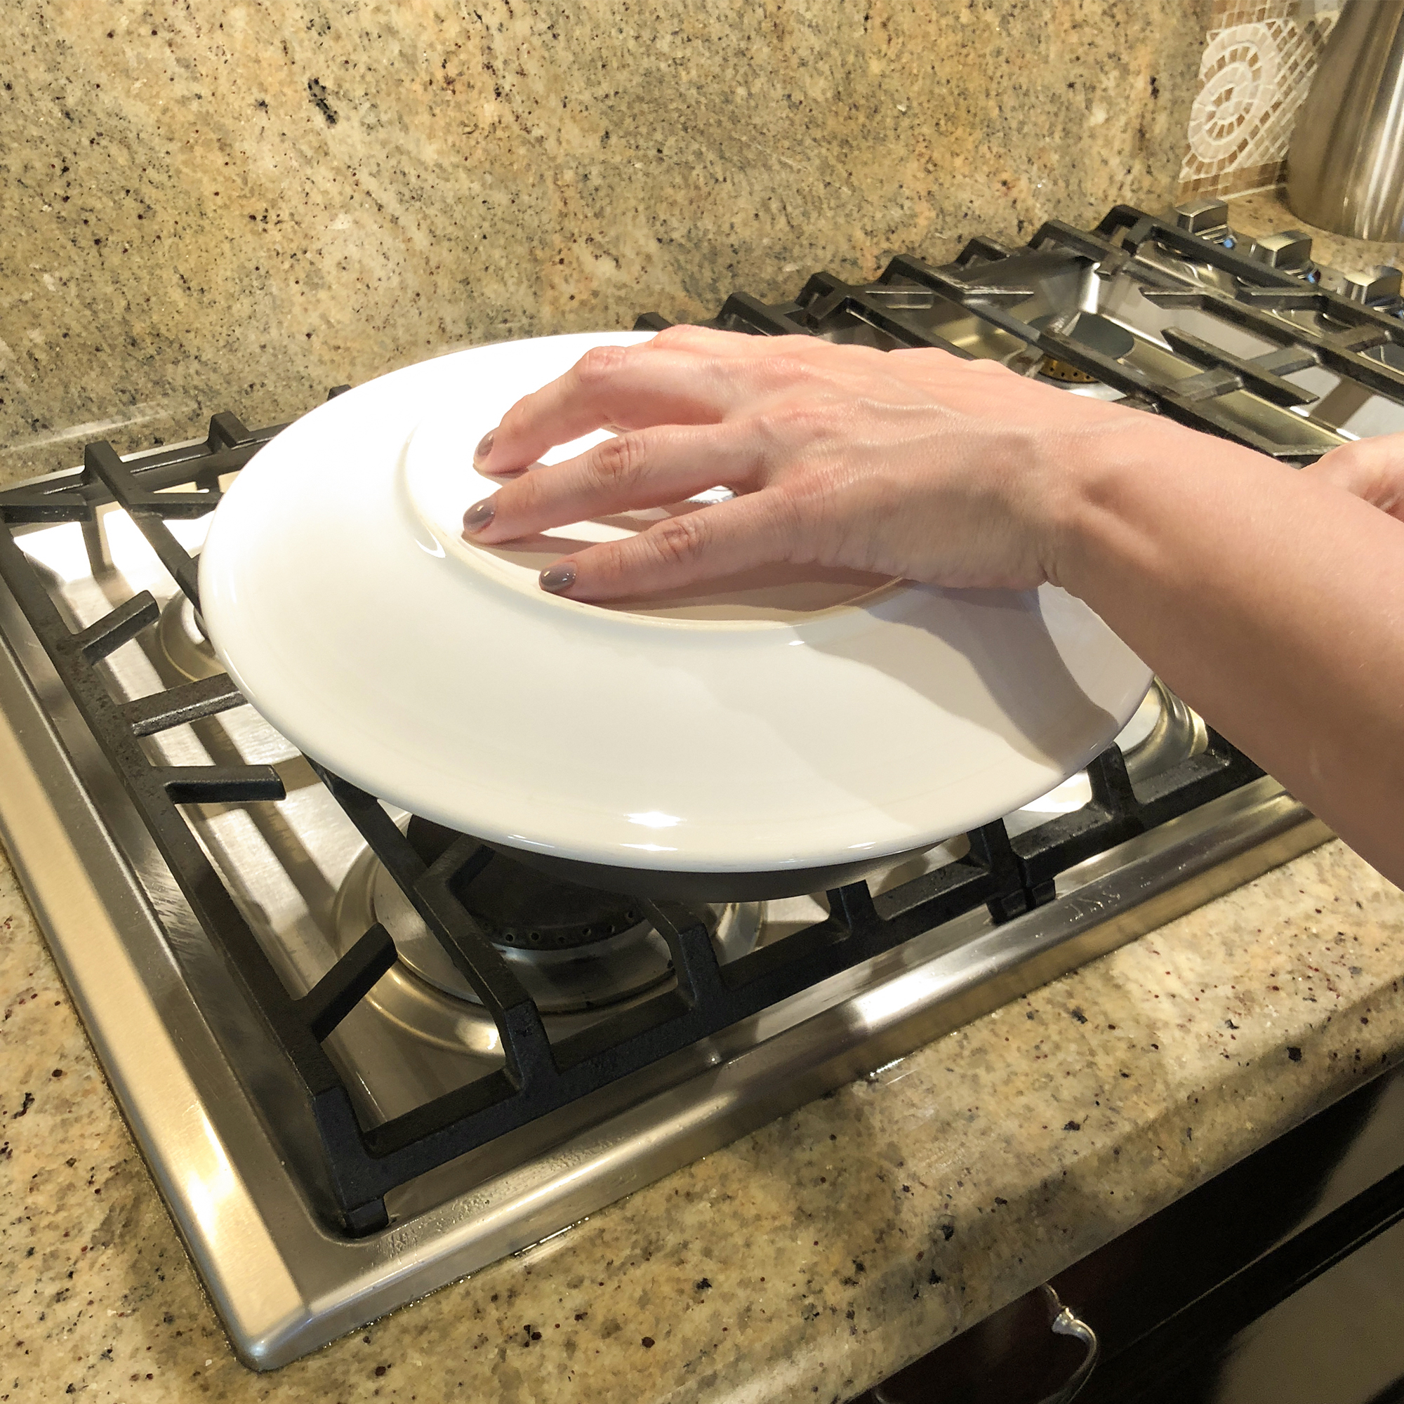
<instances>
[{"instance_id":1,"label":"beige speckled stone countertop in front of the stove","mask_svg":"<svg viewBox=\"0 0 1404 1404\"><path fill-rule=\"evenodd\" d=\"M1404 1052L1328 844L268 1376L230 1353L0 868L0 1401L847 1400Z\"/></svg>"}]
</instances>

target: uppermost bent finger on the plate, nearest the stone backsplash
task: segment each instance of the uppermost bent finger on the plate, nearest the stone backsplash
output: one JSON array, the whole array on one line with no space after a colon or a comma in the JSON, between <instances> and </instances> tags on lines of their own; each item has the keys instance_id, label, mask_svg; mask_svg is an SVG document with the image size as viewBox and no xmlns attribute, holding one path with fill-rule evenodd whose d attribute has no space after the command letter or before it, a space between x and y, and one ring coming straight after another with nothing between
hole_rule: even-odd
<instances>
[{"instance_id":1,"label":"uppermost bent finger on the plate, nearest the stone backsplash","mask_svg":"<svg viewBox=\"0 0 1404 1404\"><path fill-rule=\"evenodd\" d=\"M703 340L695 334L701 330L689 327L687 337L661 331L640 345L587 351L563 376L507 411L479 445L475 466L480 473L510 473L605 425L716 423L736 399L729 372L741 355L731 343L754 338L708 331Z\"/></svg>"}]
</instances>

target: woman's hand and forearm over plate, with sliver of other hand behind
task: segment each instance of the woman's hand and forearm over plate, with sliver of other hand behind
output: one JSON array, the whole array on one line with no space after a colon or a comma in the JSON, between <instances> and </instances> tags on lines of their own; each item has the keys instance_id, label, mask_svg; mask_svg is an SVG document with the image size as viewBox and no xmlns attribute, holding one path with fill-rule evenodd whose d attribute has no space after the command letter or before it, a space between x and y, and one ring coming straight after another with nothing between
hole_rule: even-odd
<instances>
[{"instance_id":1,"label":"woman's hand and forearm over plate, with sliver of other hand behind","mask_svg":"<svg viewBox=\"0 0 1404 1404\"><path fill-rule=\"evenodd\" d=\"M990 362L677 327L592 351L477 459L504 480L465 519L486 542L736 490L543 573L577 600L779 560L1053 580L1404 882L1404 437L1297 472Z\"/></svg>"}]
</instances>

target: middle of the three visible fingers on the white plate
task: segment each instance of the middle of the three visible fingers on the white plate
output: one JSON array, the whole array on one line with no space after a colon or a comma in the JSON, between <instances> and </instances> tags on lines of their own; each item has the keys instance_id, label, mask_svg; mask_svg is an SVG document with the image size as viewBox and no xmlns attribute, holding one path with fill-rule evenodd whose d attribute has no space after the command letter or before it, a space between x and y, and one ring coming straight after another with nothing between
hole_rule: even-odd
<instances>
[{"instance_id":1,"label":"middle of the three visible fingers on the white plate","mask_svg":"<svg viewBox=\"0 0 1404 1404\"><path fill-rule=\"evenodd\" d=\"M646 428L507 483L463 514L463 531L497 545L590 517L681 503L719 483L746 490L754 479L755 459L737 430Z\"/></svg>"}]
</instances>

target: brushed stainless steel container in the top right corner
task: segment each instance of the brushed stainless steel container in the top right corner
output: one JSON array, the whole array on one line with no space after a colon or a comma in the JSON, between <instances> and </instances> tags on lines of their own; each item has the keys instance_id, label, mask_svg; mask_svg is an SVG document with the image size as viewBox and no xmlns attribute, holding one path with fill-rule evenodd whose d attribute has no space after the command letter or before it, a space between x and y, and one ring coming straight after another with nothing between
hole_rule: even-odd
<instances>
[{"instance_id":1,"label":"brushed stainless steel container in the top right corner","mask_svg":"<svg viewBox=\"0 0 1404 1404\"><path fill-rule=\"evenodd\" d=\"M1345 0L1287 153L1287 204L1352 239L1404 239L1404 0Z\"/></svg>"}]
</instances>

